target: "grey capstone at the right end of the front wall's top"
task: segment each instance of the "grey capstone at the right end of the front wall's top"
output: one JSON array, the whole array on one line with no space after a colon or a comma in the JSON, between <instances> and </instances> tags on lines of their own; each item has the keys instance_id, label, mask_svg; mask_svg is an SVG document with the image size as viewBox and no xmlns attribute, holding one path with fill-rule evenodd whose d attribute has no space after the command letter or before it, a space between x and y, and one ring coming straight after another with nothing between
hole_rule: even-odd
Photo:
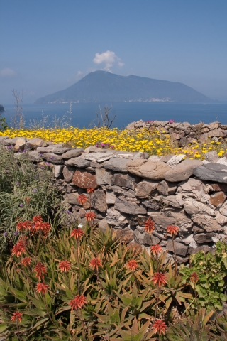
<instances>
[{"instance_id":1,"label":"grey capstone at the right end of the front wall's top","mask_svg":"<svg viewBox=\"0 0 227 341\"><path fill-rule=\"evenodd\" d=\"M219 165L218 163L207 163L204 166L196 167L194 175L201 180L227 183L227 166Z\"/></svg>"}]
</instances>

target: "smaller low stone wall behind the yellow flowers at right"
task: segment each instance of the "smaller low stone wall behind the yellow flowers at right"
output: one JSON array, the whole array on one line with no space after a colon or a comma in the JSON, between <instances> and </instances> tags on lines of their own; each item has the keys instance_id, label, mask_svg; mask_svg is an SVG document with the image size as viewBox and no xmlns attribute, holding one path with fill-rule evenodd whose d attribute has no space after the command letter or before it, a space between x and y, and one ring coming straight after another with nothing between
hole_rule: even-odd
<instances>
[{"instance_id":1,"label":"smaller low stone wall behind the yellow flowers at right","mask_svg":"<svg viewBox=\"0 0 227 341\"><path fill-rule=\"evenodd\" d=\"M204 143L211 138L214 141L222 141L227 137L227 125L220 122L213 122L210 124L189 124L189 122L177 123L173 120L170 121L135 121L126 129L149 129L154 128L160 131L164 131L165 134L170 134L173 141L178 141L180 147L187 146L192 141L200 141Z\"/></svg>"}]
</instances>

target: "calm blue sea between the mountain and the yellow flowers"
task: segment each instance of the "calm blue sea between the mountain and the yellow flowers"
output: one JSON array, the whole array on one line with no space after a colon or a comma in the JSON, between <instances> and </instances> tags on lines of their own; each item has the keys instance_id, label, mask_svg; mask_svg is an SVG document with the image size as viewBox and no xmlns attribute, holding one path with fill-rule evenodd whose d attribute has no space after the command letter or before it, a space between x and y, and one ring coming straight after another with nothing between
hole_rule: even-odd
<instances>
[{"instance_id":1,"label":"calm blue sea between the mountain and the yellow flowers","mask_svg":"<svg viewBox=\"0 0 227 341\"><path fill-rule=\"evenodd\" d=\"M104 108L106 104L100 104ZM111 104L107 104L111 107ZM15 114L13 105L4 105L6 121L11 125L11 117ZM33 119L41 120L48 115L49 121L55 117L69 116L70 104L24 104L23 114L26 118L26 126L31 125ZM72 104L72 126L88 128L96 123L96 112L99 112L98 103L73 103ZM188 121L191 124L210 123L220 121L227 124L227 102L213 103L114 103L110 116L116 114L113 127L124 128L128 123L143 119L169 121L174 119L177 122ZM48 124L47 124L48 125Z\"/></svg>"}]
</instances>

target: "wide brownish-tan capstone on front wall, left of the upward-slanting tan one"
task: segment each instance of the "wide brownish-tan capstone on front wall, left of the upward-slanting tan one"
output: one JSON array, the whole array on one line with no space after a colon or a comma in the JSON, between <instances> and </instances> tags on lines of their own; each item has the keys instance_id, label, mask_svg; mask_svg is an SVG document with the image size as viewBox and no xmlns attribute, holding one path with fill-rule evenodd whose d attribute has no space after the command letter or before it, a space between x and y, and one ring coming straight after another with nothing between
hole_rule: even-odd
<instances>
[{"instance_id":1,"label":"wide brownish-tan capstone on front wall, left of the upward-slanting tan one","mask_svg":"<svg viewBox=\"0 0 227 341\"><path fill-rule=\"evenodd\" d=\"M129 161L127 163L128 172L138 175L141 178L162 180L164 178L164 174L171 169L170 166L162 161L143 161L144 160Z\"/></svg>"}]
</instances>

